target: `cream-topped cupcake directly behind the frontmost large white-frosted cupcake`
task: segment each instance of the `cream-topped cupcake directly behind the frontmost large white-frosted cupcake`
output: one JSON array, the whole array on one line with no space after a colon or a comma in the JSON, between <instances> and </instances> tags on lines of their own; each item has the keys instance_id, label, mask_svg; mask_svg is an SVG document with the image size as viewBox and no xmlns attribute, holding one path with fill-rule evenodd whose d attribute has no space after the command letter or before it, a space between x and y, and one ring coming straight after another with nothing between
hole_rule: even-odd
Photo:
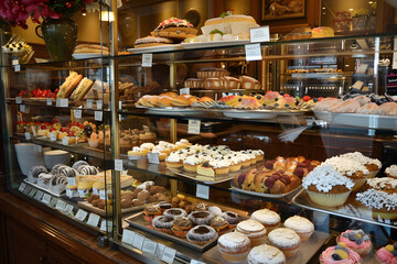
<instances>
[{"instance_id":1,"label":"cream-topped cupcake directly behind the frontmost large white-frosted cupcake","mask_svg":"<svg viewBox=\"0 0 397 264\"><path fill-rule=\"evenodd\" d=\"M352 191L358 190L366 182L369 170L360 162L334 156L328 158L323 164L332 165L343 176L353 180L354 187Z\"/></svg>"}]
</instances>

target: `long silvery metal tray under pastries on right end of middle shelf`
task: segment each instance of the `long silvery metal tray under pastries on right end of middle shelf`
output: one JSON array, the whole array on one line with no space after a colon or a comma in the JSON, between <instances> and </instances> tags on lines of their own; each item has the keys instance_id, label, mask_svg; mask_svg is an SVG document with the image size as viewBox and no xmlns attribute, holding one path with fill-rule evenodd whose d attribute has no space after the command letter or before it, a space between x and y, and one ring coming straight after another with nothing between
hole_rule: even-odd
<instances>
[{"instance_id":1,"label":"long silvery metal tray under pastries on right end of middle shelf","mask_svg":"<svg viewBox=\"0 0 397 264\"><path fill-rule=\"evenodd\" d=\"M363 113L333 113L313 110L315 118L330 124L358 127L367 129L397 130L397 117L363 114Z\"/></svg>"}]
</instances>

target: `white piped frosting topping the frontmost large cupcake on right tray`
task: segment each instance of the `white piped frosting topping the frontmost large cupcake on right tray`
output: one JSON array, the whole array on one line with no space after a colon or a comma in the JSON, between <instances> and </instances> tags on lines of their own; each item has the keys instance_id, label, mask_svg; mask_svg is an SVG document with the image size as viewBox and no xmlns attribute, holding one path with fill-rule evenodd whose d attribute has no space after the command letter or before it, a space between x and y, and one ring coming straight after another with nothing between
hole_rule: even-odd
<instances>
[{"instance_id":1,"label":"white piped frosting topping the frontmost large cupcake on right tray","mask_svg":"<svg viewBox=\"0 0 397 264\"><path fill-rule=\"evenodd\" d=\"M315 167L302 179L303 188L308 189L311 185L314 185L319 191L329 193L336 185L352 189L354 183L336 172L332 165L322 165Z\"/></svg>"}]
</instances>

